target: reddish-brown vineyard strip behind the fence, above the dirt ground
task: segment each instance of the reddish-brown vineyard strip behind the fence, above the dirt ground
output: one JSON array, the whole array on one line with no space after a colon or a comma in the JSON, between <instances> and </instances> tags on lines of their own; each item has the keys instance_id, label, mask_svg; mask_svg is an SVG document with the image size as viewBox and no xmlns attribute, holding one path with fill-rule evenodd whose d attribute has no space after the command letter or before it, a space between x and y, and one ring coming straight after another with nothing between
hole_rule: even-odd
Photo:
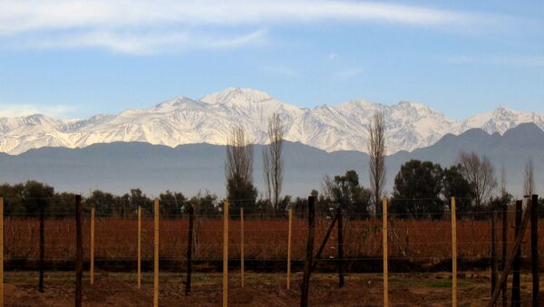
<instances>
[{"instance_id":1,"label":"reddish-brown vineyard strip behind the fence, above the dirt ground","mask_svg":"<svg viewBox=\"0 0 544 307\"><path fill-rule=\"evenodd\" d=\"M245 258L268 263L287 259L286 219L246 220ZM329 220L316 221L316 244L325 236ZM142 222L142 259L152 260L152 221ZM461 220L457 225L459 259L478 262L491 255L491 222ZM498 226L500 231L500 225ZM89 259L89 220L83 226L83 255ZM451 224L449 221L397 220L389 225L390 260L431 265L452 257ZM509 225L509 245L513 244L513 224ZM539 225L539 234L544 225ZM71 219L45 220L44 247L48 263L62 264L75 257L75 223ZM293 222L292 259L304 261L306 252L306 221ZM529 232L526 232L529 240ZM372 261L382 256L382 227L374 220L345 222L345 258L352 261ZM336 233L325 246L322 258L335 257ZM527 241L526 240L526 241ZM135 261L137 255L137 222L133 219L97 219L95 222L95 259L97 262ZM188 243L187 220L160 221L160 259L165 263L184 261ZM222 259L222 221L199 219L195 224L193 259L200 263L214 263ZM529 256L529 244L522 246L522 256ZM500 246L499 246L500 250ZM540 254L544 240L539 240ZM229 258L240 257L239 221L229 222ZM32 263L39 259L39 221L30 218L5 219L5 261Z\"/></svg>"}]
</instances>

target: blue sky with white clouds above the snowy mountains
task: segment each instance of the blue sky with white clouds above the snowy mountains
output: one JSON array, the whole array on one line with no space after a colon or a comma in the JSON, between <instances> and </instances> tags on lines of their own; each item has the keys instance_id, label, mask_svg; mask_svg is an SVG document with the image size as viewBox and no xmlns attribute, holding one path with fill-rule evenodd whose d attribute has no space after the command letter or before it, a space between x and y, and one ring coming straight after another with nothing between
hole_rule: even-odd
<instances>
[{"instance_id":1,"label":"blue sky with white clouds above the snowy mountains","mask_svg":"<svg viewBox=\"0 0 544 307\"><path fill-rule=\"evenodd\" d=\"M307 108L544 113L544 2L0 0L0 117L81 119L228 87Z\"/></svg>"}]
</instances>

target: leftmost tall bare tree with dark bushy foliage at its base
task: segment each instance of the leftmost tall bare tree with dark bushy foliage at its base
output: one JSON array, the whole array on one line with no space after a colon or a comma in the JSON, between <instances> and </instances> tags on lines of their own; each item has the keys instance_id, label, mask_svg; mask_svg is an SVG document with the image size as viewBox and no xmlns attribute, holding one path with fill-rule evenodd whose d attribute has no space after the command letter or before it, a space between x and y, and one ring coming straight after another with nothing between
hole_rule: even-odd
<instances>
[{"instance_id":1,"label":"leftmost tall bare tree with dark bushy foliage at its base","mask_svg":"<svg viewBox=\"0 0 544 307\"><path fill-rule=\"evenodd\" d=\"M254 203L257 189L253 186L253 146L241 127L234 128L228 139L225 177L228 197L236 201L232 205Z\"/></svg>"}]
</instances>

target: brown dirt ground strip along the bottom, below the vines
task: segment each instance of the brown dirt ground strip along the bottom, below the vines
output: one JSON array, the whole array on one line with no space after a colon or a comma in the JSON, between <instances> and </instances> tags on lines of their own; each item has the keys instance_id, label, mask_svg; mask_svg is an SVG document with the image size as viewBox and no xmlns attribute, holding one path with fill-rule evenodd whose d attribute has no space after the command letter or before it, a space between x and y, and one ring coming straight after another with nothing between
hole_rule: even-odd
<instances>
[{"instance_id":1,"label":"brown dirt ground strip along the bottom, below the vines","mask_svg":"<svg viewBox=\"0 0 544 307\"><path fill-rule=\"evenodd\" d=\"M296 306L300 303L301 273L292 278L287 290L286 274L246 273L246 286L232 273L229 279L230 306ZM160 274L161 306L219 306L221 275L195 273L192 291L185 295L185 275ZM544 280L540 281L540 284ZM380 274L346 274L345 286L338 289L335 274L316 273L310 282L310 306L381 306L383 280ZM459 279L460 306L481 306L490 299L489 273L464 273ZM44 293L37 291L35 272L5 273L6 306L73 306L73 273L45 273ZM142 289L136 287L134 273L97 273L92 285L88 276L83 283L84 306L149 306L152 304L152 274L142 278ZM389 300L394 306L447 306L452 304L451 275L448 273L390 274ZM530 305L530 275L521 276L522 305ZM510 292L509 292L510 297ZM544 297L543 297L544 299Z\"/></svg>"}]
</instances>

